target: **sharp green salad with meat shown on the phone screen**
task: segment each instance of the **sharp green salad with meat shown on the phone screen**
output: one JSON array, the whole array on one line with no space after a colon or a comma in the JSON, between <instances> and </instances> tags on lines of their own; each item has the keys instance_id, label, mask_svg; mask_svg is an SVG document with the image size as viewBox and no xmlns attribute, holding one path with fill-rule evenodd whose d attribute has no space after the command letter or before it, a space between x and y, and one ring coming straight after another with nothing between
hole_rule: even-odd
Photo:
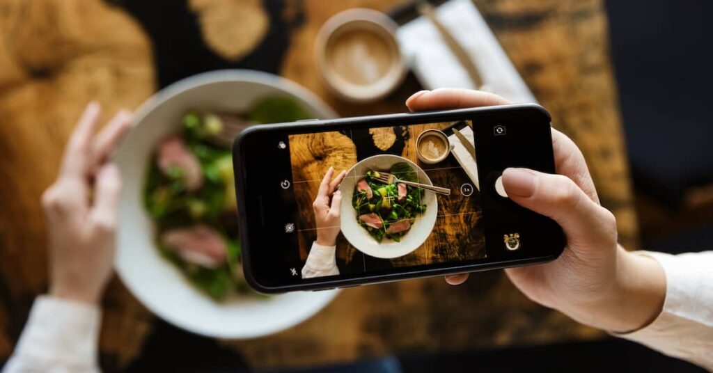
<instances>
[{"instance_id":1,"label":"sharp green salad with meat shown on the phone screen","mask_svg":"<svg viewBox=\"0 0 713 373\"><path fill-rule=\"evenodd\" d=\"M419 181L416 171L405 162L394 163L388 172L401 180ZM378 170L368 170L366 178L356 182L352 206L359 225L376 241L386 237L399 242L416 217L426 211L426 205L421 204L425 191L404 183L381 183L376 180L378 176Z\"/></svg>"}]
</instances>

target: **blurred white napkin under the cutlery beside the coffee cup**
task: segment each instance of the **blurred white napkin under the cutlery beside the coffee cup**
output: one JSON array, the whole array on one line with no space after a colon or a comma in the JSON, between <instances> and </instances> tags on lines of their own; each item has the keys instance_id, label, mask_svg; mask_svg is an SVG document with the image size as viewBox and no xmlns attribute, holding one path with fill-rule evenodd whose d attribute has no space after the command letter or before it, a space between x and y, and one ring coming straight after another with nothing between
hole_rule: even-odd
<instances>
[{"instance_id":1,"label":"blurred white napkin under the cutlery beside the coffee cup","mask_svg":"<svg viewBox=\"0 0 713 373\"><path fill-rule=\"evenodd\" d=\"M448 1L438 6L436 14L473 58L483 77L481 89L497 93L513 103L536 102L471 0ZM401 26L396 36L401 53L425 88L476 88L436 26L426 17L421 16Z\"/></svg>"}]
</instances>

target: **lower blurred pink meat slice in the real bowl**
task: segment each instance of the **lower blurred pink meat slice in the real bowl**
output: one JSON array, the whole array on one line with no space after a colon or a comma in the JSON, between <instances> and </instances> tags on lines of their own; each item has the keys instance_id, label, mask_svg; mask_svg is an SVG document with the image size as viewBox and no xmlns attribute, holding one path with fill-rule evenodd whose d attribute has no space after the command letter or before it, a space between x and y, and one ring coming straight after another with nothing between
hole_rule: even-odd
<instances>
[{"instance_id":1,"label":"lower blurred pink meat slice in the real bowl","mask_svg":"<svg viewBox=\"0 0 713 373\"><path fill-rule=\"evenodd\" d=\"M164 247L177 252L186 262L201 267L219 267L227 259L225 240L206 225L168 230L160 240Z\"/></svg>"}]
</instances>

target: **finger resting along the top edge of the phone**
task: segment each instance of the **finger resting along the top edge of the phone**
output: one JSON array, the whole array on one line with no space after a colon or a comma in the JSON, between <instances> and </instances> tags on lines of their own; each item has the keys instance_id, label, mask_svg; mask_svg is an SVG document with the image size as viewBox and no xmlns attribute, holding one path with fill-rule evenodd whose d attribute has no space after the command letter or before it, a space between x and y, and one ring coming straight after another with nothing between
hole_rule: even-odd
<instances>
[{"instance_id":1,"label":"finger resting along the top edge of the phone","mask_svg":"<svg viewBox=\"0 0 713 373\"><path fill-rule=\"evenodd\" d=\"M414 93L406 100L410 111L429 111L449 108L507 105L505 98L495 93L460 88L438 88Z\"/></svg>"}]
</instances>

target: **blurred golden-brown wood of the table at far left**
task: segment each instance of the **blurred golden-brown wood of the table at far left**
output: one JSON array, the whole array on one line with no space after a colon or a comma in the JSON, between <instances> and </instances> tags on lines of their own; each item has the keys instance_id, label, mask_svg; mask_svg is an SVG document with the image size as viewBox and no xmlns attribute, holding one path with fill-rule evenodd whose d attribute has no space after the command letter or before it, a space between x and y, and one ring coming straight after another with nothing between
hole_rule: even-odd
<instances>
[{"instance_id":1,"label":"blurred golden-brown wood of the table at far left","mask_svg":"<svg viewBox=\"0 0 713 373\"><path fill-rule=\"evenodd\" d=\"M101 1L0 3L0 327L16 340L46 291L42 191L88 101L103 118L136 108L155 90L150 44L135 21ZM150 316L116 280L106 296L101 349L120 361L138 352ZM9 356L0 342L0 359Z\"/></svg>"}]
</instances>

